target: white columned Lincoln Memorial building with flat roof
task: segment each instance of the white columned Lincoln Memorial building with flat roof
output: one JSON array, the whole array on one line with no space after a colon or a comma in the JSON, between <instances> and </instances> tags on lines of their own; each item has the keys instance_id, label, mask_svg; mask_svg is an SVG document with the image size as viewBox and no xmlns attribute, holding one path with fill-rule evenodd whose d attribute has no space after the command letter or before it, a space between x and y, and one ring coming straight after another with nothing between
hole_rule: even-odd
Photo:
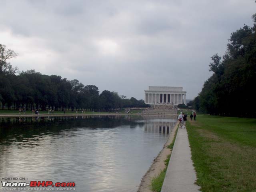
<instances>
[{"instance_id":1,"label":"white columned Lincoln Memorial building with flat roof","mask_svg":"<svg viewBox=\"0 0 256 192\"><path fill-rule=\"evenodd\" d=\"M182 87L149 86L145 90L145 103L151 105L186 104L186 91Z\"/></svg>"}]
</instances>

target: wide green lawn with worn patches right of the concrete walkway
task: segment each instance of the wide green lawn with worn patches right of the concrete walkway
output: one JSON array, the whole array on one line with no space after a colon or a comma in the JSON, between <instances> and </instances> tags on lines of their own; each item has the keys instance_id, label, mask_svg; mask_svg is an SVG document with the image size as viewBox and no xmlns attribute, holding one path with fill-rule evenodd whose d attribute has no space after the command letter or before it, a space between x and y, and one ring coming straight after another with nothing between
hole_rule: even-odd
<instances>
[{"instance_id":1,"label":"wide green lawn with worn patches right of the concrete walkway","mask_svg":"<svg viewBox=\"0 0 256 192\"><path fill-rule=\"evenodd\" d=\"M198 115L186 128L203 192L256 192L256 119Z\"/></svg>"}]
</instances>

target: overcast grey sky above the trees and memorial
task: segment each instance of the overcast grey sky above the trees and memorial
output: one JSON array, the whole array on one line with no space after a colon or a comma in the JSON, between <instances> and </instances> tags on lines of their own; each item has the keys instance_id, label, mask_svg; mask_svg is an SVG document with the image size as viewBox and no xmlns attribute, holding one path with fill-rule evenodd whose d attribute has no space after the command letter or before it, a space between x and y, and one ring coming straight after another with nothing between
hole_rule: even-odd
<instances>
[{"instance_id":1,"label":"overcast grey sky above the trees and memorial","mask_svg":"<svg viewBox=\"0 0 256 192\"><path fill-rule=\"evenodd\" d=\"M193 99L210 57L255 12L254 0L0 0L0 44L19 54L19 70L137 99L148 86L182 86Z\"/></svg>"}]
</instances>

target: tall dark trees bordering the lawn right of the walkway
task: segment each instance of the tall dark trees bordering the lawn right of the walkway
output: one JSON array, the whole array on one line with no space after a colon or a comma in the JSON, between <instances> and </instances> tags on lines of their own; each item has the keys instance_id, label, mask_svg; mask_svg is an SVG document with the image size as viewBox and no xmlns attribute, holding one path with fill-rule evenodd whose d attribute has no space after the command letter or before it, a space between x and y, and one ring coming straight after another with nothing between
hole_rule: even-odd
<instances>
[{"instance_id":1,"label":"tall dark trees bordering the lawn right of the walkway","mask_svg":"<svg viewBox=\"0 0 256 192\"><path fill-rule=\"evenodd\" d=\"M252 20L252 27L244 25L231 33L222 57L211 57L213 74L188 105L214 115L256 117L256 14Z\"/></svg>"}]
</instances>

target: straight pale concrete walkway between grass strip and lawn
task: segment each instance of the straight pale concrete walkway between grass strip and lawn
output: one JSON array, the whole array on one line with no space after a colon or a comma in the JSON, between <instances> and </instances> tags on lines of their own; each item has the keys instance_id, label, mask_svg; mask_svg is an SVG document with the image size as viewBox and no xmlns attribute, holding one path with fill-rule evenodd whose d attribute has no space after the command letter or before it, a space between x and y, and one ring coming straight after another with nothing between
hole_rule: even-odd
<instances>
[{"instance_id":1,"label":"straight pale concrete walkway between grass strip and lawn","mask_svg":"<svg viewBox=\"0 0 256 192\"><path fill-rule=\"evenodd\" d=\"M178 129L161 192L198 192L187 130Z\"/></svg>"}]
</instances>

